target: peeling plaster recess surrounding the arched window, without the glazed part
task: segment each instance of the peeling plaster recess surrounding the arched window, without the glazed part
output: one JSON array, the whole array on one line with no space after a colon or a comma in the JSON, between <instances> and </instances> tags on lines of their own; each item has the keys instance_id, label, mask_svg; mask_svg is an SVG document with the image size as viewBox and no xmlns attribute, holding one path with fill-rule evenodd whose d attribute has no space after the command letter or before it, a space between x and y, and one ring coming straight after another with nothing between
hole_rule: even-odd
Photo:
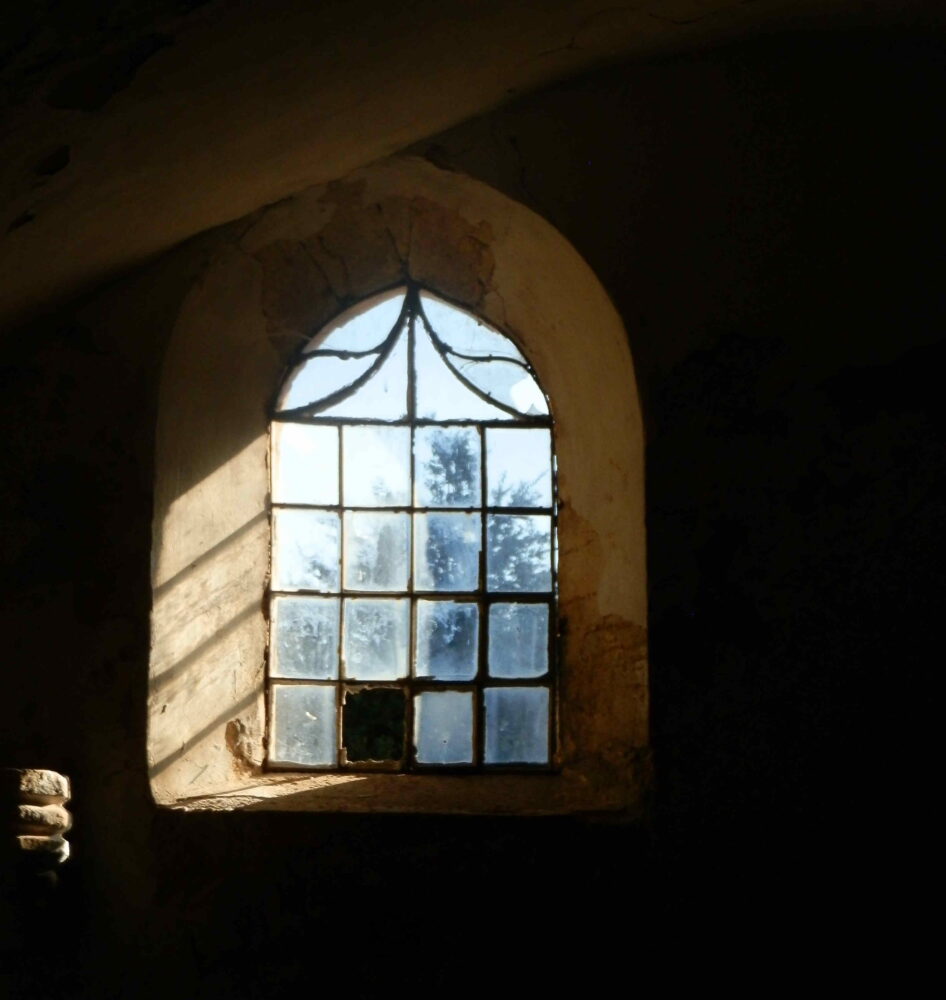
<instances>
[{"instance_id":1,"label":"peeling plaster recess surrounding the arched window, without the glazed part","mask_svg":"<svg viewBox=\"0 0 946 1000\"><path fill-rule=\"evenodd\" d=\"M207 234L157 401L151 792L183 810L641 816L650 786L643 428L600 282L505 195L395 157ZM555 773L269 772L269 405L303 340L409 278L509 334L555 411Z\"/></svg>"}]
</instances>

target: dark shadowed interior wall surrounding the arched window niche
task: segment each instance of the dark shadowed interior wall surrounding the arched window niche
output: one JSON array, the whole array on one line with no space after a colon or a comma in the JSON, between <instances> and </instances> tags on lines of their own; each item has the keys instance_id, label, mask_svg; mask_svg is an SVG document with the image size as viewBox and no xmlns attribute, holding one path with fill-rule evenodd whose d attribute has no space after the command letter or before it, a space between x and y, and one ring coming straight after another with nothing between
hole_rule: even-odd
<instances>
[{"instance_id":1,"label":"dark shadowed interior wall surrounding the arched window niche","mask_svg":"<svg viewBox=\"0 0 946 1000\"><path fill-rule=\"evenodd\" d=\"M627 325L651 831L158 812L154 398L200 241L14 331L0 762L69 774L76 826L59 892L20 914L36 943L0 951L12 995L372 997L467 989L507 954L533 989L591 965L629 983L655 955L810 956L834 922L874 919L910 815L913 637L943 590L944 76L929 34L783 35L615 67L415 150L556 225Z\"/></svg>"}]
</instances>

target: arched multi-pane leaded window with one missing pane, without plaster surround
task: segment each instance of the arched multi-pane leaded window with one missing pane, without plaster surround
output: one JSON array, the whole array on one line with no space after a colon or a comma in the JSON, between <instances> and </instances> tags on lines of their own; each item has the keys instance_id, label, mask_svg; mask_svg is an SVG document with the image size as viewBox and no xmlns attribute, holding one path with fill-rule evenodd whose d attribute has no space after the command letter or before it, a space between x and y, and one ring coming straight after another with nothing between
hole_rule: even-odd
<instances>
[{"instance_id":1,"label":"arched multi-pane leaded window with one missing pane, without plaster surround","mask_svg":"<svg viewBox=\"0 0 946 1000\"><path fill-rule=\"evenodd\" d=\"M515 344L374 296L305 345L270 456L270 764L547 768L552 420Z\"/></svg>"}]
</instances>

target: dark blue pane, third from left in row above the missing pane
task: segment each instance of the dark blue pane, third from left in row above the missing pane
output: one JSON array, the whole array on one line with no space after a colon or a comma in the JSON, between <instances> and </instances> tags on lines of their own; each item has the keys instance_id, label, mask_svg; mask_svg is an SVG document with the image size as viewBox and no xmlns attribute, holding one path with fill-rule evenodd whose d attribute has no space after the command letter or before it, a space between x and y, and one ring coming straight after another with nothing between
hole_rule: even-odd
<instances>
[{"instance_id":1,"label":"dark blue pane, third from left in row above the missing pane","mask_svg":"<svg viewBox=\"0 0 946 1000\"><path fill-rule=\"evenodd\" d=\"M439 681L472 680L479 647L479 608L453 601L417 602L414 672Z\"/></svg>"}]
</instances>

